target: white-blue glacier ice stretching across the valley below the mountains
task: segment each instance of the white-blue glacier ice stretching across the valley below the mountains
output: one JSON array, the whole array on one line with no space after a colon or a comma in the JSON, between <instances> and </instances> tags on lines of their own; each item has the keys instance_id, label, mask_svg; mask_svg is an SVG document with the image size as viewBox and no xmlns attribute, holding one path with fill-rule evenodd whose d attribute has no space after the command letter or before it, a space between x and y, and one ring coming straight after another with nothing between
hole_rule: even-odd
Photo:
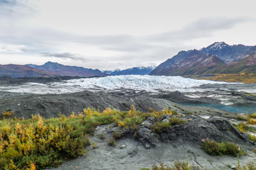
<instances>
[{"instance_id":1,"label":"white-blue glacier ice stretching across the valley below the mountains","mask_svg":"<svg viewBox=\"0 0 256 170\"><path fill-rule=\"evenodd\" d=\"M191 91L202 84L230 84L221 81L189 79L183 77L165 77L149 75L122 75L112 77L95 77L70 79L48 84L27 83L20 86L0 86L0 91L21 94L65 94L84 90L134 89L155 91Z\"/></svg>"}]
</instances>

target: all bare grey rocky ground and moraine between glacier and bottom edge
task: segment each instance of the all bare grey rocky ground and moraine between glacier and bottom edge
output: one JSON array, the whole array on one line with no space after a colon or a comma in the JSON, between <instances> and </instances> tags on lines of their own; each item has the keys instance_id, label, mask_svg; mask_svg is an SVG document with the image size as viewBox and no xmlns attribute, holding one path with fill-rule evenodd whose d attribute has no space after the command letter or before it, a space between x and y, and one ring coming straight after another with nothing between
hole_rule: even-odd
<instances>
[{"instance_id":1,"label":"all bare grey rocky ground and moraine between glacier and bottom edge","mask_svg":"<svg viewBox=\"0 0 256 170\"><path fill-rule=\"evenodd\" d=\"M186 120L186 123L172 125L158 132L153 128L156 123L156 118L153 117L144 120L135 130L114 124L101 125L96 128L95 135L90 136L92 145L86 148L85 156L65 160L64 164L53 169L141 169L151 168L160 162L171 165L176 160L187 160L189 164L206 169L235 169L238 162L245 165L256 159L253 152L255 142L233 126L233 123L245 123L245 120L241 120L240 114L237 113L216 108L186 106L181 103L229 102L235 105L256 106L255 94L239 91L241 86L244 89L252 89L255 84L202 85L200 88L203 91L182 93L150 93L132 89L81 91L72 94L18 94L1 91L0 112L11 111L18 118L31 118L31 114L53 118L58 117L60 113L80 113L88 107L100 111L108 107L129 111L134 104L137 111L142 112L167 108L176 111L179 118ZM166 123L173 116L164 115L158 121ZM251 126L254 128L254 125ZM120 135L114 147L107 142L113 132L119 132ZM206 138L216 142L233 142L240 145L246 154L240 157L210 156L201 148L201 142Z\"/></svg>"}]
</instances>

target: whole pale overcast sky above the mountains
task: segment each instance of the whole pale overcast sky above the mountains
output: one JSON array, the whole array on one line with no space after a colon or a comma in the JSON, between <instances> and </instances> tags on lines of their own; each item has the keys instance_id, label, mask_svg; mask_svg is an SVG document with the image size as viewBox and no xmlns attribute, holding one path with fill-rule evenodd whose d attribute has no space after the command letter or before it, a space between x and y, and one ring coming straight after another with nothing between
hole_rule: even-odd
<instances>
[{"instance_id":1,"label":"whole pale overcast sky above the mountains","mask_svg":"<svg viewBox=\"0 0 256 170\"><path fill-rule=\"evenodd\" d=\"M0 64L160 64L216 41L256 45L255 0L0 0Z\"/></svg>"}]
</instances>

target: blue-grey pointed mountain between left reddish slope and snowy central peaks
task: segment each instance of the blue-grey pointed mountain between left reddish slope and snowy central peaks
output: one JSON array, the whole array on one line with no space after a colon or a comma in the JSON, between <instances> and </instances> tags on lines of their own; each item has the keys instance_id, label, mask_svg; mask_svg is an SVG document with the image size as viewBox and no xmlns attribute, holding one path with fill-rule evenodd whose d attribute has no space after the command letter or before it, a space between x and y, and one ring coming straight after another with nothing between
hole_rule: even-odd
<instances>
[{"instance_id":1,"label":"blue-grey pointed mountain between left reddish slope and snowy central peaks","mask_svg":"<svg viewBox=\"0 0 256 170\"><path fill-rule=\"evenodd\" d=\"M86 69L84 67L67 66L58 64L57 62L46 62L43 65L26 64L29 67L35 69L44 70L47 72L53 72L60 74L61 76L78 76L78 77L104 77L107 74L100 72L99 69Z\"/></svg>"}]
</instances>

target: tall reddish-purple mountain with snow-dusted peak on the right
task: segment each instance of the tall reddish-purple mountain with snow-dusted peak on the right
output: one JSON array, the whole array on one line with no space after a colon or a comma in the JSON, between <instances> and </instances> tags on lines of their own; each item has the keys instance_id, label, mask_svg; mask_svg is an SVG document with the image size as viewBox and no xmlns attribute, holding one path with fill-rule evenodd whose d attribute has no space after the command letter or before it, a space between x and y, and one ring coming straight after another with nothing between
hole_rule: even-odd
<instances>
[{"instance_id":1,"label":"tall reddish-purple mountain with snow-dusted peak on the right","mask_svg":"<svg viewBox=\"0 0 256 170\"><path fill-rule=\"evenodd\" d=\"M178 52L150 75L255 74L256 46L215 42L201 50Z\"/></svg>"}]
</instances>

